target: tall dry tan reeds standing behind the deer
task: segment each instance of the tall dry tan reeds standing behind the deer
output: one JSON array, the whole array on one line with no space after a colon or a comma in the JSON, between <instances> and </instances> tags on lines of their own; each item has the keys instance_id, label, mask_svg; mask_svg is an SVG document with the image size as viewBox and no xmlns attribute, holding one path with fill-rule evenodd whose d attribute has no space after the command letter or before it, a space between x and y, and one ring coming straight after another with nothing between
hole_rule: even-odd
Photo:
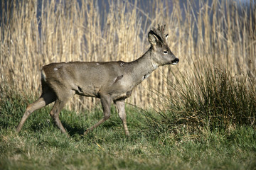
<instances>
[{"instance_id":1,"label":"tall dry tan reeds standing behind the deer","mask_svg":"<svg viewBox=\"0 0 256 170\"><path fill-rule=\"evenodd\" d=\"M178 84L173 76L178 72L196 81L196 72L221 67L255 82L255 2L250 7L219 0L147 2L2 1L1 93L8 86L39 96L40 69L50 62L135 60L149 48L147 33L157 24L166 24L169 47L180 62L152 73L127 103L154 106L155 98L161 100L154 91L168 94L166 77ZM78 111L98 102L75 96L67 106Z\"/></svg>"}]
</instances>

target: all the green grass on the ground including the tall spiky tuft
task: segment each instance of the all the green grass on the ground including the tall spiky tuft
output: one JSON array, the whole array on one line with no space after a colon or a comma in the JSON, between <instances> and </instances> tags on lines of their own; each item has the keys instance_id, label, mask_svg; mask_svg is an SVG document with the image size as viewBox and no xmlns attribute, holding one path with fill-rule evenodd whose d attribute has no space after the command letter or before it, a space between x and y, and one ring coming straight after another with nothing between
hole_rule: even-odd
<instances>
[{"instance_id":1,"label":"all the green grass on the ground including the tall spiky tuft","mask_svg":"<svg viewBox=\"0 0 256 170\"><path fill-rule=\"evenodd\" d=\"M114 107L110 120L87 136L82 132L102 118L99 107L92 112L60 113L69 138L50 118L50 106L33 113L17 135L15 127L32 99L6 88L0 103L0 169L255 169L255 89L242 86L244 79L235 81L223 74L208 74L209 79L215 75L215 84L206 82L215 89L229 81L228 88L223 87L230 94L227 97L207 84L203 89L200 85L206 82L195 86L184 79L186 89L175 87L182 102L165 96L161 110L127 105L129 137ZM207 111L206 98L183 96L192 87L201 87L213 101ZM234 93L242 112L225 103L233 100Z\"/></svg>"}]
</instances>

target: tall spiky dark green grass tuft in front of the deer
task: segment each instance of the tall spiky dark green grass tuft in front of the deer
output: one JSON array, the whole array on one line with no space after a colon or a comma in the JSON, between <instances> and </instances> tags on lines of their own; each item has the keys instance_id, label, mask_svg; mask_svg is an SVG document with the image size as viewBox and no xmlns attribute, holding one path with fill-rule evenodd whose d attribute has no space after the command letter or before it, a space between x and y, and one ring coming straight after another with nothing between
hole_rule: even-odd
<instances>
[{"instance_id":1,"label":"tall spiky dark green grass tuft in front of the deer","mask_svg":"<svg viewBox=\"0 0 256 170\"><path fill-rule=\"evenodd\" d=\"M181 73L174 76L183 77ZM241 125L255 128L256 91L247 77L206 68L192 80L183 77L178 85L166 82L168 95L155 91L162 107L142 111L144 125L152 133L232 130Z\"/></svg>"}]
</instances>

